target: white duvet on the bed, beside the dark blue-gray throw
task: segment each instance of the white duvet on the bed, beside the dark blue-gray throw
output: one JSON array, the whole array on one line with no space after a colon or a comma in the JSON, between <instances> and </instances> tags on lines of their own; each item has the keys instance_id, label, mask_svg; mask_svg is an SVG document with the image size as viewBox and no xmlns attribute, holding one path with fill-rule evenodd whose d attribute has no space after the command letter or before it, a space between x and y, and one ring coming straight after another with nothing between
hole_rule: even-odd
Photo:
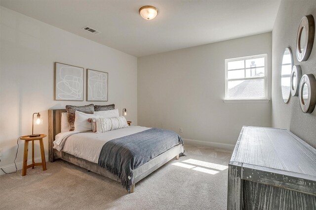
<instances>
[{"instance_id":1,"label":"white duvet on the bed, beside the dark blue-gray throw","mask_svg":"<svg viewBox=\"0 0 316 210\"><path fill-rule=\"evenodd\" d=\"M111 130L104 133L93 133L92 131L61 132L55 137L55 141L53 142L54 149L65 151L93 163L98 163L100 151L105 143L113 139L128 136L148 129L150 128L142 126L128 126L126 128Z\"/></svg>"}]
</instances>

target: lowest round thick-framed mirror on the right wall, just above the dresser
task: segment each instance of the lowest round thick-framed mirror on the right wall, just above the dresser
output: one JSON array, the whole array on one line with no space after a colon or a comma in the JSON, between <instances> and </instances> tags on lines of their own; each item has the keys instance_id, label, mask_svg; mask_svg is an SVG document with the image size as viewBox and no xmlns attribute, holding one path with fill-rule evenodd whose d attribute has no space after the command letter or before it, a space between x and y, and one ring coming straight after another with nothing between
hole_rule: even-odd
<instances>
[{"instance_id":1,"label":"lowest round thick-framed mirror on the right wall, just above the dresser","mask_svg":"<svg viewBox=\"0 0 316 210\"><path fill-rule=\"evenodd\" d=\"M312 113L316 105L316 79L313 74L304 74L299 89L300 106L304 113Z\"/></svg>"}]
</instances>

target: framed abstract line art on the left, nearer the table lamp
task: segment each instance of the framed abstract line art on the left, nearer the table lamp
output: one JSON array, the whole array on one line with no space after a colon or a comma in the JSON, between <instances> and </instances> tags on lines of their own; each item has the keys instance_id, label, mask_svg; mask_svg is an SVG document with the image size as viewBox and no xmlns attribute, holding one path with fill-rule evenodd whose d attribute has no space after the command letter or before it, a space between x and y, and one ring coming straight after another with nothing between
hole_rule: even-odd
<instances>
[{"instance_id":1,"label":"framed abstract line art on the left, nearer the table lamp","mask_svg":"<svg viewBox=\"0 0 316 210\"><path fill-rule=\"evenodd\" d=\"M83 101L84 68L55 62L54 100Z\"/></svg>"}]
</instances>

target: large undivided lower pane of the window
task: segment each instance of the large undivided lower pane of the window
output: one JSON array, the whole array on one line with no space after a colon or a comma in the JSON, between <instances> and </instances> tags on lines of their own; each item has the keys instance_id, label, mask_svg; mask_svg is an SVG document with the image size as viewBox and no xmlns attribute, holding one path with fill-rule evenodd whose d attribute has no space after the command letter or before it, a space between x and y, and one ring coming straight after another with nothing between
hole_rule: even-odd
<instances>
[{"instance_id":1,"label":"large undivided lower pane of the window","mask_svg":"<svg viewBox=\"0 0 316 210\"><path fill-rule=\"evenodd\" d=\"M265 80L228 81L227 98L264 98Z\"/></svg>"}]
</instances>

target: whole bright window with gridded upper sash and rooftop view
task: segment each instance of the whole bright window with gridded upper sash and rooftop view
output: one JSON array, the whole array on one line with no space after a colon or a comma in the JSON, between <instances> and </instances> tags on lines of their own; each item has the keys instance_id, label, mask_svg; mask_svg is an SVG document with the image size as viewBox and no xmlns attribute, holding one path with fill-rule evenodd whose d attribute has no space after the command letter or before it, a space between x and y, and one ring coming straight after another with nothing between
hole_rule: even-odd
<instances>
[{"instance_id":1,"label":"whole bright window with gridded upper sash and rooftop view","mask_svg":"<svg viewBox=\"0 0 316 210\"><path fill-rule=\"evenodd\" d=\"M225 60L225 99L267 99L267 54Z\"/></svg>"}]
</instances>

